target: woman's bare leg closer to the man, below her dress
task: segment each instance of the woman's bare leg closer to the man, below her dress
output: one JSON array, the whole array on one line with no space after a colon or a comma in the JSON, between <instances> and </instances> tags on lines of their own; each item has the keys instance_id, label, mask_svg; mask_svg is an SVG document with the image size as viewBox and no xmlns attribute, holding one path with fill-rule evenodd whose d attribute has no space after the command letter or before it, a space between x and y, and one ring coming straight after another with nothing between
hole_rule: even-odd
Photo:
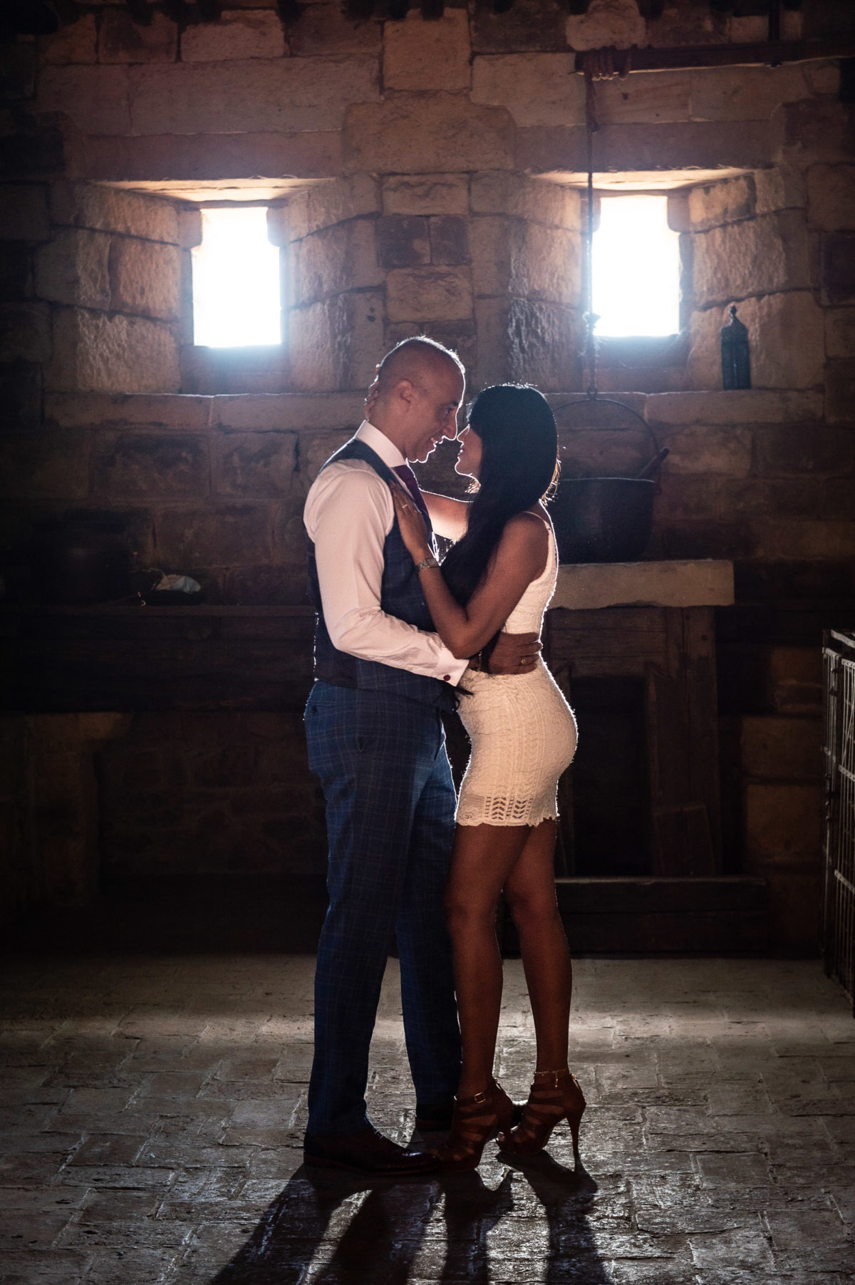
<instances>
[{"instance_id":1,"label":"woman's bare leg closer to the man, below her dress","mask_svg":"<svg viewBox=\"0 0 855 1285\"><path fill-rule=\"evenodd\" d=\"M483 1092L493 1074L502 1005L496 906L530 833L524 825L458 825L454 831L445 914L463 1046L458 1097Z\"/></svg>"}]
</instances>

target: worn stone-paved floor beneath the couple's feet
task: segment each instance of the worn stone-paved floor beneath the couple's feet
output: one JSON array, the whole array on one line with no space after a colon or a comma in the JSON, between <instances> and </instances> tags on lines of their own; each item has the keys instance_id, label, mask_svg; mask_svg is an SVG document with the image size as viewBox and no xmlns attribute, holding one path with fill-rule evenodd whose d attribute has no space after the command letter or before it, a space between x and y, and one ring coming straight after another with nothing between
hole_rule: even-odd
<instances>
[{"instance_id":1,"label":"worn stone-paved floor beneath the couple's feet","mask_svg":"<svg viewBox=\"0 0 855 1285\"><path fill-rule=\"evenodd\" d=\"M587 959L591 1106L514 1168L361 1182L300 1167L312 959L6 964L4 1285L843 1285L855 1279L855 1023L816 962ZM501 1073L531 1027L507 961ZM375 1121L412 1096L390 961Z\"/></svg>"}]
</instances>

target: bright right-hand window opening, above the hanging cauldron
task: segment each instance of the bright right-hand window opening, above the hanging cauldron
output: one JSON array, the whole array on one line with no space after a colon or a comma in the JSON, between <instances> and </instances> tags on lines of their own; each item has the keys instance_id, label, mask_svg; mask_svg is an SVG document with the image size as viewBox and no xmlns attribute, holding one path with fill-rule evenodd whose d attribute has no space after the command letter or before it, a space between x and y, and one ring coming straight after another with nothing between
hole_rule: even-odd
<instances>
[{"instance_id":1,"label":"bright right-hand window opening, above the hanging cauldron","mask_svg":"<svg viewBox=\"0 0 855 1285\"><path fill-rule=\"evenodd\" d=\"M677 334L679 290L679 234L668 226L668 197L602 197L593 236L596 334Z\"/></svg>"}]
</instances>

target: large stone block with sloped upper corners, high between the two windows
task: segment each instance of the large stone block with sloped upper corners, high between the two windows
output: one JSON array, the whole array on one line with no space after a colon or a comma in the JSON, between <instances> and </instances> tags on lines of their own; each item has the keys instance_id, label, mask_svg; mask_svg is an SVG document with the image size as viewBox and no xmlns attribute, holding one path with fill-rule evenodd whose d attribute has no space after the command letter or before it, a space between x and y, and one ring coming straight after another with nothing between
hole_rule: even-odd
<instances>
[{"instance_id":1,"label":"large stone block with sloped upper corners, high between the two windows","mask_svg":"<svg viewBox=\"0 0 855 1285\"><path fill-rule=\"evenodd\" d=\"M474 105L467 95L395 94L347 109L344 163L381 173L398 171L402 157L415 173L510 170L514 128L507 111Z\"/></svg>"}]
</instances>

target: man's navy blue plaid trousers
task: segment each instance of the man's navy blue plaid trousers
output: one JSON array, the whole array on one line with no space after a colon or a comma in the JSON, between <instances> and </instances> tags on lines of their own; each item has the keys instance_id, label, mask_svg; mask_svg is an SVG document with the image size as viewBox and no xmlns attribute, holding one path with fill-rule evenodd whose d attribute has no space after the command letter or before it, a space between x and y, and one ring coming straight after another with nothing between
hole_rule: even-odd
<instances>
[{"instance_id":1,"label":"man's navy blue plaid trousers","mask_svg":"<svg viewBox=\"0 0 855 1285\"><path fill-rule=\"evenodd\" d=\"M385 691L316 682L306 705L326 797L330 905L315 974L311 1133L368 1122L368 1046L393 933L407 1055L422 1105L451 1101L460 1028L443 893L454 786L439 711Z\"/></svg>"}]
</instances>

